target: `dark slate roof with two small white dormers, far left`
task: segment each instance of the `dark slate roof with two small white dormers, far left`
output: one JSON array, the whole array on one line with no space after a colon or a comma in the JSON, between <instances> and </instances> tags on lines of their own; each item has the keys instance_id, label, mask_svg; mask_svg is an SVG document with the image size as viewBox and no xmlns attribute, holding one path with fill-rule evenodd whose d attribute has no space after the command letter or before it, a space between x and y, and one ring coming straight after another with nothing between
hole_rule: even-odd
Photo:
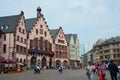
<instances>
[{"instance_id":1,"label":"dark slate roof with two small white dormers, far left","mask_svg":"<svg viewBox=\"0 0 120 80\"><path fill-rule=\"evenodd\" d=\"M0 28L4 33L13 32L20 15L0 17ZM6 27L8 27L6 29Z\"/></svg>"}]
</instances>

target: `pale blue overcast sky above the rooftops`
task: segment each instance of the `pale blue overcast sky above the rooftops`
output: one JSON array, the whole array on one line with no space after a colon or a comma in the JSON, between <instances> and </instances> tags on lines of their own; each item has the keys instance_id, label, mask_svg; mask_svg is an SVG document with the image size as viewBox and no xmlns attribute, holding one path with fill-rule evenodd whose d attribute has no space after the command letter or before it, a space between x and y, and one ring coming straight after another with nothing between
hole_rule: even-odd
<instances>
[{"instance_id":1,"label":"pale blue overcast sky above the rooftops","mask_svg":"<svg viewBox=\"0 0 120 80\"><path fill-rule=\"evenodd\" d=\"M100 38L120 36L120 0L1 0L0 16L23 10L25 18L33 18L38 6L50 29L78 34L85 51Z\"/></svg>"}]
</instances>

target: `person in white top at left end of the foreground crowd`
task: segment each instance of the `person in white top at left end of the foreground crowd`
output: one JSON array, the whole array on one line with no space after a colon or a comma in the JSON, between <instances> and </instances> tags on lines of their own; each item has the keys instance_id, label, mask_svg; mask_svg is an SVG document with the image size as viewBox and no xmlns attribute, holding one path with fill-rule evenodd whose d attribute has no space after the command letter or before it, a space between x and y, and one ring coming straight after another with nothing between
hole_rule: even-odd
<instances>
[{"instance_id":1,"label":"person in white top at left end of the foreground crowd","mask_svg":"<svg viewBox=\"0 0 120 80\"><path fill-rule=\"evenodd\" d=\"M94 66L92 65L92 62L88 62L88 66L86 67L86 75L88 76L88 80L93 80L93 70Z\"/></svg>"}]
</instances>

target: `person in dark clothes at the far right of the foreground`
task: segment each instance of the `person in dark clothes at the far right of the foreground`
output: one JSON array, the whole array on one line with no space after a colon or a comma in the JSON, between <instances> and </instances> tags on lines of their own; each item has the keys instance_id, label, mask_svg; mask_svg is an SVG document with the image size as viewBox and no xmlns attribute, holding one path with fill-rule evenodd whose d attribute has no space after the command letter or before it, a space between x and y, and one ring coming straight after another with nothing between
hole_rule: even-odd
<instances>
[{"instance_id":1,"label":"person in dark clothes at the far right of the foreground","mask_svg":"<svg viewBox=\"0 0 120 80\"><path fill-rule=\"evenodd\" d=\"M111 80L117 80L117 73L119 73L119 69L116 63L110 61L108 65L108 70L110 72Z\"/></svg>"}]
</instances>

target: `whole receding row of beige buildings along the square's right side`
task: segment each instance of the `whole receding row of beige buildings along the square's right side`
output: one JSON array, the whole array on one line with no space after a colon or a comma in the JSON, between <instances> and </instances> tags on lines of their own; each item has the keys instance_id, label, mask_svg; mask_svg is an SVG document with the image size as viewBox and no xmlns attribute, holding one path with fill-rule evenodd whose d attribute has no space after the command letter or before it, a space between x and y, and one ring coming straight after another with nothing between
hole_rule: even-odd
<instances>
[{"instance_id":1,"label":"whole receding row of beige buildings along the square's right side","mask_svg":"<svg viewBox=\"0 0 120 80\"><path fill-rule=\"evenodd\" d=\"M120 65L120 37L112 37L107 40L99 39L93 48L83 55L82 60L85 66L86 60L93 63L108 63L113 60Z\"/></svg>"}]
</instances>

